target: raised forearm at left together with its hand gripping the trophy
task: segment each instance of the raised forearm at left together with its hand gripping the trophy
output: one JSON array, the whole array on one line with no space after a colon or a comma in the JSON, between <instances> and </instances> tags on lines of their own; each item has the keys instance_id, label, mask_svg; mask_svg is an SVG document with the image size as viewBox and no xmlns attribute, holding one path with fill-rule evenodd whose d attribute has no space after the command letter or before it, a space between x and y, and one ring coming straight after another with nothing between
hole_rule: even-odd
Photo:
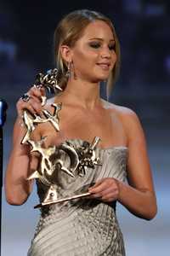
<instances>
[{"instance_id":1,"label":"raised forearm at left together with its hand gripping the trophy","mask_svg":"<svg viewBox=\"0 0 170 256\"><path fill-rule=\"evenodd\" d=\"M31 170L37 168L37 157L30 154L30 146L20 144L26 135L26 125L22 120L22 114L27 110L30 114L40 113L42 110L40 97L44 95L43 89L34 87L28 91L31 99L26 102L20 99L16 104L17 119L14 124L13 150L8 160L8 167L5 177L6 199L10 204L20 205L24 203L31 193L32 182L26 178L30 176ZM31 139L40 140L41 137L37 132L31 132ZM34 137L35 136L35 137Z\"/></svg>"}]
</instances>

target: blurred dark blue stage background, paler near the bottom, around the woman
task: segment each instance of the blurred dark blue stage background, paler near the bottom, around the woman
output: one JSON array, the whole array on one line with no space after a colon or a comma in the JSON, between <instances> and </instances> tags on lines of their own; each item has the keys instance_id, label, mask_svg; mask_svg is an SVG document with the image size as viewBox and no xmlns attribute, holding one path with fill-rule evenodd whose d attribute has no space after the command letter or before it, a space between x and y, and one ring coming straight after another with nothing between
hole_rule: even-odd
<instances>
[{"instance_id":1,"label":"blurred dark blue stage background, paler near the bottom, around the woman","mask_svg":"<svg viewBox=\"0 0 170 256\"><path fill-rule=\"evenodd\" d=\"M54 67L55 26L75 9L94 9L113 20L121 43L122 68L110 100L138 113L148 142L159 211L154 220L147 222L118 207L127 256L165 255L170 248L169 1L1 0L0 98L8 102L4 169L11 148L15 103L29 89L36 73ZM104 88L102 94L105 96ZM3 256L26 255L37 223L38 212L32 209L35 204L36 191L22 207L8 206L3 195Z\"/></svg>"}]
</instances>

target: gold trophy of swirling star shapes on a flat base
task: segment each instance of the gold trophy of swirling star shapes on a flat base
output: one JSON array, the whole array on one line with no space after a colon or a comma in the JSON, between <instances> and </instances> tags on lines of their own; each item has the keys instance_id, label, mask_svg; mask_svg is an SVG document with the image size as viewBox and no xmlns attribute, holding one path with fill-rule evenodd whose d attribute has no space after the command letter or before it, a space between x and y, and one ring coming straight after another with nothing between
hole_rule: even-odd
<instances>
[{"instance_id":1,"label":"gold trophy of swirling star shapes on a flat base","mask_svg":"<svg viewBox=\"0 0 170 256\"><path fill-rule=\"evenodd\" d=\"M49 70L45 75L38 73L34 86L37 88L46 88L52 93L62 91L57 82L57 75L58 71L56 68ZM27 97L27 95L25 95L25 97ZM26 98L25 100L27 101ZM42 96L42 107L46 102L47 97ZM55 131L59 131L59 111L61 110L62 103L53 103L52 107L54 108L54 113L50 113L47 109L42 108L42 116L39 116L38 114L33 115L28 110L24 110L23 113L23 121L26 125L26 134L23 137L21 144L30 144L31 152L38 152L38 154L40 154L38 170L35 170L27 179L31 180L33 178L37 178L48 187L48 191L42 203L37 205L35 208L90 195L89 192L86 192L60 198L57 189L59 186L57 172L65 172L71 177L83 177L86 175L87 168L94 169L96 165L101 166L99 157L96 157L95 154L95 148L100 141L99 137L94 137L92 143L84 142L81 147L75 147L71 145L71 143L65 141L65 143L61 143L58 146L44 148L42 145L46 140L46 137L42 137L38 142L31 140L31 132L36 129L37 124L50 122L51 125L54 126ZM65 166L62 154L68 155L70 159L70 166Z\"/></svg>"}]
</instances>

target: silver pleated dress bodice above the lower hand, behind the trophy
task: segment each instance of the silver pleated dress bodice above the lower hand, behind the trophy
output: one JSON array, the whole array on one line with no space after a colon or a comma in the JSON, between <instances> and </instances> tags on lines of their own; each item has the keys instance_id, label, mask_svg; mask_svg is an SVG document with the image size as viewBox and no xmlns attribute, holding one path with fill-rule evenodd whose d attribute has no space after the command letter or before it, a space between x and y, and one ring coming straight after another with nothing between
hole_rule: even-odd
<instances>
[{"instance_id":1,"label":"silver pleated dress bodice above the lower hand, behind the trophy","mask_svg":"<svg viewBox=\"0 0 170 256\"><path fill-rule=\"evenodd\" d=\"M79 148L84 143L82 139L78 138L67 139L66 142L74 148ZM62 171L57 173L57 189L61 197L87 192L89 186L104 177L114 177L120 181L125 181L127 147L113 146L111 148L96 148L95 155L99 158L101 165L95 166L95 168L88 167L83 176L77 175L76 177L71 177ZM68 154L63 154L62 158L65 166L68 167L71 164ZM43 200L47 189L48 187L46 185L37 181L37 192L40 201Z\"/></svg>"}]
</instances>

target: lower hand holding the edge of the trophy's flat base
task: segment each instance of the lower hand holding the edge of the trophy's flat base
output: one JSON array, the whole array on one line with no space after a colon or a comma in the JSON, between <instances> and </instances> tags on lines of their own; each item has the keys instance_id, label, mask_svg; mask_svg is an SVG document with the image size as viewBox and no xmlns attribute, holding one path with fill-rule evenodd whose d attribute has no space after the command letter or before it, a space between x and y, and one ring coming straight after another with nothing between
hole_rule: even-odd
<instances>
[{"instance_id":1,"label":"lower hand holding the edge of the trophy's flat base","mask_svg":"<svg viewBox=\"0 0 170 256\"><path fill-rule=\"evenodd\" d=\"M97 181L88 191L90 198L96 198L101 201L116 201L120 194L119 181L113 177L105 177Z\"/></svg>"}]
</instances>

